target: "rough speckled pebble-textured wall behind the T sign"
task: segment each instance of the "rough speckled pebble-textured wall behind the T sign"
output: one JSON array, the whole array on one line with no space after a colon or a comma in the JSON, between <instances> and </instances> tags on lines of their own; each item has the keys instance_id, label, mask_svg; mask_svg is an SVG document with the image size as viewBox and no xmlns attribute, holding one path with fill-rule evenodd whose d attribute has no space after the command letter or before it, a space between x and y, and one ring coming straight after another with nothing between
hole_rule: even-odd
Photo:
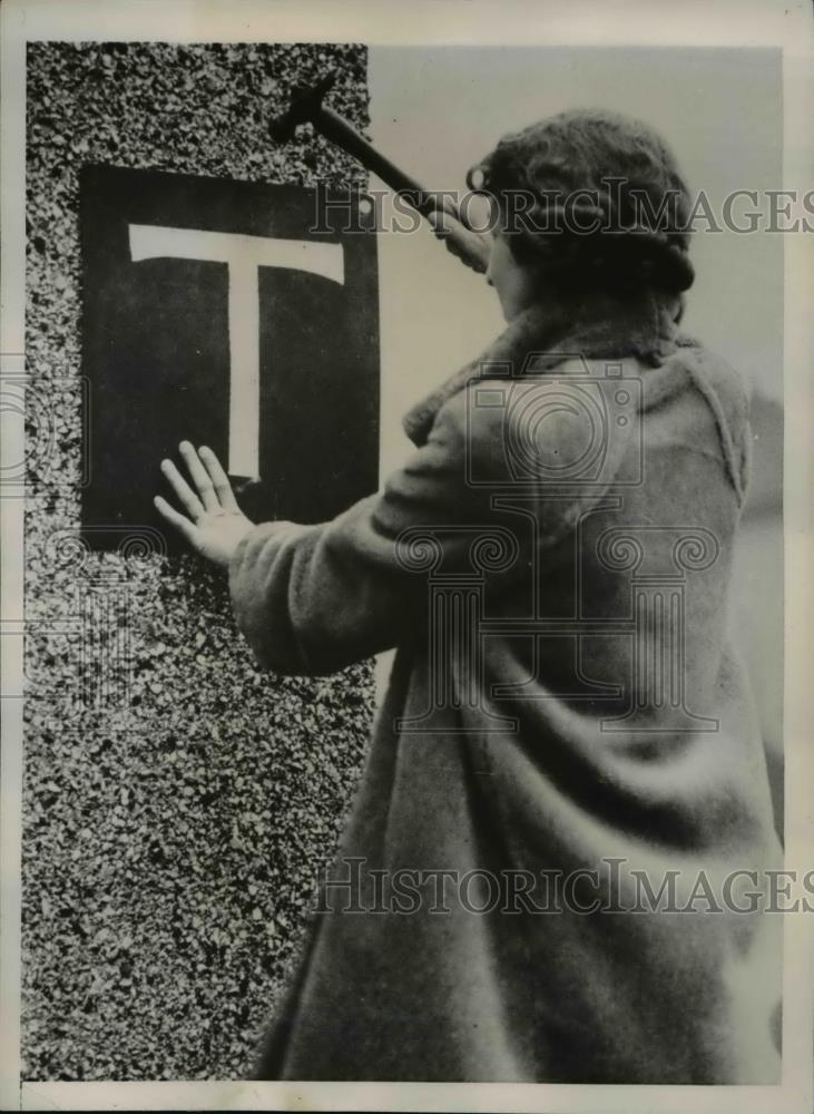
<instances>
[{"instance_id":1,"label":"rough speckled pebble-textured wall behind the T sign","mask_svg":"<svg viewBox=\"0 0 814 1114\"><path fill-rule=\"evenodd\" d=\"M77 540L84 439L78 170L364 184L296 81L367 124L357 46L35 43L28 55L23 1076L245 1076L367 739L369 664L255 671L223 574Z\"/></svg>"}]
</instances>

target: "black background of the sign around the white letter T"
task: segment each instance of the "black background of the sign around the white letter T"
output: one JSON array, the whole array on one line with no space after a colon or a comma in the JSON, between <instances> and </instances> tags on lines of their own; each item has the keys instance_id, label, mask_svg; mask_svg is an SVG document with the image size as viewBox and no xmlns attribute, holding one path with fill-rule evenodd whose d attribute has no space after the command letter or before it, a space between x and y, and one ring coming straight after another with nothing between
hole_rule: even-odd
<instances>
[{"instance_id":1,"label":"black background of the sign around the white letter T","mask_svg":"<svg viewBox=\"0 0 814 1114\"><path fill-rule=\"evenodd\" d=\"M315 231L317 195L301 186L82 168L82 362L90 384L82 524L94 527L86 535L91 546L117 546L122 527L147 525L177 547L153 497L169 495L159 463L166 456L178 461L180 440L209 444L228 467L229 265L174 257L169 238L167 255L136 262L131 225L341 245L342 282L293 266L255 267L261 480L234 479L255 521L324 521L376 489L375 233L355 193L341 201L350 219L341 205L325 208ZM246 328L242 314L232 328ZM116 530L107 535L106 527Z\"/></svg>"}]
</instances>

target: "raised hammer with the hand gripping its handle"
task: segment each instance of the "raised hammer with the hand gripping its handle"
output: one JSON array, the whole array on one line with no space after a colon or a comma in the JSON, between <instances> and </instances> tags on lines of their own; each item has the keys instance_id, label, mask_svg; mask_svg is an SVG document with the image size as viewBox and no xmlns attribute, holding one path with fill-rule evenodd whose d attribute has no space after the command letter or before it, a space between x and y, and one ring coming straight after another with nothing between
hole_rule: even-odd
<instances>
[{"instance_id":1,"label":"raised hammer with the hand gripping its handle","mask_svg":"<svg viewBox=\"0 0 814 1114\"><path fill-rule=\"evenodd\" d=\"M440 221L440 228L435 229L437 235L447 241L450 251L467 266L482 274L489 262L487 240L470 228L454 202L450 198L439 201L432 190L425 189L395 163L376 150L373 144L344 117L323 105L325 95L333 87L335 79L335 72L331 72L314 86L296 86L287 111L276 117L269 126L272 139L276 143L288 143L301 124L313 124L321 135L357 158L366 169L401 194L422 216L429 218L435 214ZM449 229L444 228L442 223L444 212L458 222Z\"/></svg>"}]
</instances>

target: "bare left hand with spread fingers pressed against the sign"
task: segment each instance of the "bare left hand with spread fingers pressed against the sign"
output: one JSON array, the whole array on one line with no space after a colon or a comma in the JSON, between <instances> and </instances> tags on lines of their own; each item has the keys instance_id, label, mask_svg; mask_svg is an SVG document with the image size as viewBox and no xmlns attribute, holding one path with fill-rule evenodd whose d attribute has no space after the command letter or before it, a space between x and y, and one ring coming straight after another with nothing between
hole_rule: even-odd
<instances>
[{"instance_id":1,"label":"bare left hand with spread fingers pressed against the sign","mask_svg":"<svg viewBox=\"0 0 814 1114\"><path fill-rule=\"evenodd\" d=\"M178 448L193 487L171 460L161 461L161 471L189 517L182 515L159 495L153 502L193 549L216 565L226 567L238 543L254 524L237 506L228 476L212 449L202 447L198 453L189 441L182 441Z\"/></svg>"}]
</instances>

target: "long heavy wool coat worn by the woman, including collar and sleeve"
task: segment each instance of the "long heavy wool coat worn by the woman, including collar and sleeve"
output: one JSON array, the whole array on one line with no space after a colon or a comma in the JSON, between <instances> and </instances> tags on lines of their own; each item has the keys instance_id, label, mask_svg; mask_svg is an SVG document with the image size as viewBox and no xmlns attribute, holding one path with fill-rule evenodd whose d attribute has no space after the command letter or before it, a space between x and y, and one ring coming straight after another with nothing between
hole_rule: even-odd
<instances>
[{"instance_id":1,"label":"long heavy wool coat worn by the woman, including collar and sleeve","mask_svg":"<svg viewBox=\"0 0 814 1114\"><path fill-rule=\"evenodd\" d=\"M673 319L532 307L406 416L381 492L234 555L263 667L398 647L261 1077L778 1082L782 852L727 627L747 400Z\"/></svg>"}]
</instances>

